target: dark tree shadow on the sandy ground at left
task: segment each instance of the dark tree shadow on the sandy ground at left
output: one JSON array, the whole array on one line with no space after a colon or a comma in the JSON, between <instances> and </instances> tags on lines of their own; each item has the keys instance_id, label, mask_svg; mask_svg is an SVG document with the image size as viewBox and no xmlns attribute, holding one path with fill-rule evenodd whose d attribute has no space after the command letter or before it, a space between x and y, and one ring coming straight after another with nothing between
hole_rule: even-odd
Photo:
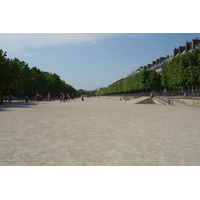
<instances>
[{"instance_id":1,"label":"dark tree shadow on the sandy ground at left","mask_svg":"<svg viewBox=\"0 0 200 200\"><path fill-rule=\"evenodd\" d=\"M29 101L28 103L26 102L3 102L3 104L0 104L0 112L2 111L9 111L9 108L30 108L32 106L38 105L36 102Z\"/></svg>"}]
</instances>

